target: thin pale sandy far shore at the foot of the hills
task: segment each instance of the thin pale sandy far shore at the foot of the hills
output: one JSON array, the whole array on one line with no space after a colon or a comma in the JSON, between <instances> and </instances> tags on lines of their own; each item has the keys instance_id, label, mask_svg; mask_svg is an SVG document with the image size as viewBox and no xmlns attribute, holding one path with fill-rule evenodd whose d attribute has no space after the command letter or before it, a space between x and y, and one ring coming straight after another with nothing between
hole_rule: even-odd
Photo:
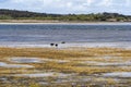
<instances>
[{"instance_id":1,"label":"thin pale sandy far shore at the foot of the hills","mask_svg":"<svg viewBox=\"0 0 131 87\"><path fill-rule=\"evenodd\" d=\"M130 24L131 22L60 22L60 21L37 21L37 20L0 20L0 24L105 24L105 25L120 25Z\"/></svg>"}]
</instances>

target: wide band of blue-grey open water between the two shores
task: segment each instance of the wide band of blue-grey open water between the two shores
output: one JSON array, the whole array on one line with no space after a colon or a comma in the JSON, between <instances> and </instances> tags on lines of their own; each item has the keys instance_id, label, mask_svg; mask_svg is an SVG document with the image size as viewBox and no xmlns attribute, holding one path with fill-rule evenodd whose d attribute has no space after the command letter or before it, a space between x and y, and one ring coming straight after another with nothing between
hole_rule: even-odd
<instances>
[{"instance_id":1,"label":"wide band of blue-grey open water between the two shores","mask_svg":"<svg viewBox=\"0 0 131 87\"><path fill-rule=\"evenodd\" d=\"M96 45L128 47L131 25L90 24L1 24L0 46L49 46L66 41L71 46ZM78 45L76 45L78 44Z\"/></svg>"}]
</instances>

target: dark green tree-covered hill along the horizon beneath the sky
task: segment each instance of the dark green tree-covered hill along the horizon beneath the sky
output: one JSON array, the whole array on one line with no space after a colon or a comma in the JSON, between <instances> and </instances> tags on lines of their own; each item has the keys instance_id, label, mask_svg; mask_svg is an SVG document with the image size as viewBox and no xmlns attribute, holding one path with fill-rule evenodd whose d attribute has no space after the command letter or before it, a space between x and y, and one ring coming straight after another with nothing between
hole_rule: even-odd
<instances>
[{"instance_id":1,"label":"dark green tree-covered hill along the horizon beneath the sky","mask_svg":"<svg viewBox=\"0 0 131 87\"><path fill-rule=\"evenodd\" d=\"M97 14L47 14L28 11L0 9L0 20L41 20L63 22L131 22L131 15L118 13Z\"/></svg>"}]
</instances>

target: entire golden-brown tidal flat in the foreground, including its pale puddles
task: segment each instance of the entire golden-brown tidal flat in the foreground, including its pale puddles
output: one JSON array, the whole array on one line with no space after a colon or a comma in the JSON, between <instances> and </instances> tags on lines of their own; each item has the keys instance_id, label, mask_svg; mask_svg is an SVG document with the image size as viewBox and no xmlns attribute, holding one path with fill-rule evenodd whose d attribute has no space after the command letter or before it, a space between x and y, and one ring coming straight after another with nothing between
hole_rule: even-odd
<instances>
[{"instance_id":1,"label":"entire golden-brown tidal flat in the foreground, including its pale puddles","mask_svg":"<svg viewBox=\"0 0 131 87\"><path fill-rule=\"evenodd\" d=\"M130 49L0 48L0 87L130 86Z\"/></svg>"}]
</instances>

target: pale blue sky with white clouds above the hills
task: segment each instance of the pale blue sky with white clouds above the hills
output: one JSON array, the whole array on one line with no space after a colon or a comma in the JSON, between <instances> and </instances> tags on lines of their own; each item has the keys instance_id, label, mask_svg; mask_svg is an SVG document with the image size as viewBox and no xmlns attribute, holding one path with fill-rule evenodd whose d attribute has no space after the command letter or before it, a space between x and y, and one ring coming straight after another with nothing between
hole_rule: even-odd
<instances>
[{"instance_id":1,"label":"pale blue sky with white clouds above the hills","mask_svg":"<svg viewBox=\"0 0 131 87\"><path fill-rule=\"evenodd\" d=\"M0 9L57 14L111 12L131 15L131 0L0 0Z\"/></svg>"}]
</instances>

